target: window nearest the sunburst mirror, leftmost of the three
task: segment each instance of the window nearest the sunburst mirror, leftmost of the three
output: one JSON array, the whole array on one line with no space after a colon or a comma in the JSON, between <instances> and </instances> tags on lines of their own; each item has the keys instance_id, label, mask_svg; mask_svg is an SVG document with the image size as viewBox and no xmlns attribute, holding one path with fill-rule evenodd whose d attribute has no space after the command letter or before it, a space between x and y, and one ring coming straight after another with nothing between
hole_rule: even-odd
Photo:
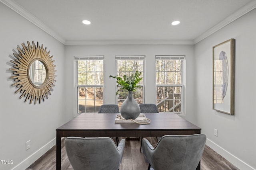
<instances>
[{"instance_id":1,"label":"window nearest the sunburst mirror, leftmost of the three","mask_svg":"<svg viewBox=\"0 0 256 170\"><path fill-rule=\"evenodd\" d=\"M95 113L103 104L103 56L75 56L77 113Z\"/></svg>"}]
</instances>

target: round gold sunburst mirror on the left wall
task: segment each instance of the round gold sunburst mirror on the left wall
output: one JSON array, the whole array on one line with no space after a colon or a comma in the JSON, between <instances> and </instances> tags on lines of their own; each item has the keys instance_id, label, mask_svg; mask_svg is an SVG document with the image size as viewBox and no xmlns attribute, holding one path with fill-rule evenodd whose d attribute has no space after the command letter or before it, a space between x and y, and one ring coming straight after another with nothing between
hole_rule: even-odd
<instances>
[{"instance_id":1,"label":"round gold sunburst mirror on the left wall","mask_svg":"<svg viewBox=\"0 0 256 170\"><path fill-rule=\"evenodd\" d=\"M27 41L28 46L22 43L23 49L17 47L19 53L13 53L16 58L14 61L11 60L11 63L14 64L13 68L10 68L13 71L14 76L10 76L11 79L14 79L15 83L12 86L16 86L18 90L15 93L22 93L20 99L25 97L25 102L30 100L30 104L34 101L34 104L41 103L45 98L48 98L48 95L51 95L50 91L53 91L53 86L55 86L54 79L55 72L54 60L50 57L50 51L46 51L43 48L43 44L35 45L32 41L30 45ZM40 68L39 68L40 67ZM36 78L32 76L36 75ZM41 77L42 81L38 83L38 77ZM37 80L37 81L35 81Z\"/></svg>"}]
</instances>

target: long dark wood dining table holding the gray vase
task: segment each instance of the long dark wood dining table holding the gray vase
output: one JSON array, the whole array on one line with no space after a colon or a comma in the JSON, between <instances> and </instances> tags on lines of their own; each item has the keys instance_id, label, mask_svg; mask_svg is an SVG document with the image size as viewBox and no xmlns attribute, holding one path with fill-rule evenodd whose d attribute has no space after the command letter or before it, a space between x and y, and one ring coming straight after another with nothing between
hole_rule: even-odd
<instances>
[{"instance_id":1,"label":"long dark wood dining table holding the gray vase","mask_svg":"<svg viewBox=\"0 0 256 170\"><path fill-rule=\"evenodd\" d=\"M82 113L56 129L56 170L61 169L62 137L157 137L193 135L201 128L174 113L144 113L150 124L115 123L117 114ZM200 162L196 170L200 170Z\"/></svg>"}]
</instances>

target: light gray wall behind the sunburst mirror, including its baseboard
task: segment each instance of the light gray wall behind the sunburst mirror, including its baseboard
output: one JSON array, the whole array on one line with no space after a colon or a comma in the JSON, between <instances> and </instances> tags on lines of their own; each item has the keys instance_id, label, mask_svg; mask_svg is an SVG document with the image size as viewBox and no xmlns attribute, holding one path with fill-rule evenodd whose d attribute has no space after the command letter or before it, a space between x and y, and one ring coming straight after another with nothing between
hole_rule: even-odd
<instances>
[{"instance_id":1,"label":"light gray wall behind the sunburst mirror, including its baseboard","mask_svg":"<svg viewBox=\"0 0 256 170\"><path fill-rule=\"evenodd\" d=\"M18 166L26 169L44 152L56 144L55 129L64 123L64 45L36 27L0 2L0 160L12 160L13 164L2 164L1 170ZM17 88L10 80L10 63L13 50L26 41L44 44L54 56L56 65L56 87L49 99L41 104L24 103ZM26 141L31 148L26 150Z\"/></svg>"}]
</instances>

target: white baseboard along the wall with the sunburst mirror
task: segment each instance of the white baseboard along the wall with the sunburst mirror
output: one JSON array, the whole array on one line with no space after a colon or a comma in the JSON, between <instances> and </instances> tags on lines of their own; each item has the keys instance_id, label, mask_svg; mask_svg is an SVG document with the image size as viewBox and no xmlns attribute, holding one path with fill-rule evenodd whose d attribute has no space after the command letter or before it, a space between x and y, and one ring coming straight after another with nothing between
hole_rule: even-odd
<instances>
[{"instance_id":1,"label":"white baseboard along the wall with the sunburst mirror","mask_svg":"<svg viewBox=\"0 0 256 170\"><path fill-rule=\"evenodd\" d=\"M45 154L49 149L51 149L54 145L56 145L56 137L44 145L42 148L38 149L32 155L28 156L25 160L20 162L17 166L12 168L12 170L24 170L28 168L31 164L33 164L38 158L40 158L43 154Z\"/></svg>"}]
</instances>

